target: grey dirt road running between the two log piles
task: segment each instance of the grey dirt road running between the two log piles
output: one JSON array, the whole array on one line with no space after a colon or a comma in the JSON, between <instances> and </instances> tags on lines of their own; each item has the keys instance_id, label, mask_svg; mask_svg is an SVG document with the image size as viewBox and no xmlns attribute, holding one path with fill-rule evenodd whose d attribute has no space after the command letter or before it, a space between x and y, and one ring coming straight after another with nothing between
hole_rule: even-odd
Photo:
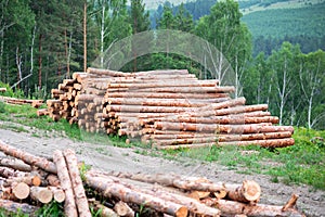
<instances>
[{"instance_id":1,"label":"grey dirt road running between the two log piles","mask_svg":"<svg viewBox=\"0 0 325 217\"><path fill-rule=\"evenodd\" d=\"M2 125L2 127L1 127ZM8 123L5 123L8 126ZM243 175L216 163L203 163L188 158L178 161L165 159L148 155L136 154L140 148L116 148L107 144L91 144L74 141L64 135L57 136L53 132L30 129L29 132L15 132L4 129L0 122L0 140L14 145L29 153L42 156L51 156L56 149L64 150L72 148L76 151L78 159L103 171L130 171L130 173L165 173L185 176L207 177L213 181L240 183L245 179L257 181L262 189L260 203L284 205L292 193L298 194L297 206L307 216L325 216L325 192L314 191L308 186L286 186L270 181L264 175Z\"/></svg>"}]
</instances>

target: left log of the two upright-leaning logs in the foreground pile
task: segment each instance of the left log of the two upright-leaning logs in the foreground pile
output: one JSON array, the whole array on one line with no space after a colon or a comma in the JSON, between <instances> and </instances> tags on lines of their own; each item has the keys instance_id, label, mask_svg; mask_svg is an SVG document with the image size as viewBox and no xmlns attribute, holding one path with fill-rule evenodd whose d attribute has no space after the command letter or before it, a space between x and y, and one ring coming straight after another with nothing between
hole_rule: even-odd
<instances>
[{"instance_id":1,"label":"left log of the two upright-leaning logs in the foreground pile","mask_svg":"<svg viewBox=\"0 0 325 217\"><path fill-rule=\"evenodd\" d=\"M58 150L53 153L53 161L56 165L57 177L61 182L61 187L65 192L64 213L68 217L77 217L77 207L74 196L73 184L69 178L68 169L63 156L63 153Z\"/></svg>"}]
</instances>

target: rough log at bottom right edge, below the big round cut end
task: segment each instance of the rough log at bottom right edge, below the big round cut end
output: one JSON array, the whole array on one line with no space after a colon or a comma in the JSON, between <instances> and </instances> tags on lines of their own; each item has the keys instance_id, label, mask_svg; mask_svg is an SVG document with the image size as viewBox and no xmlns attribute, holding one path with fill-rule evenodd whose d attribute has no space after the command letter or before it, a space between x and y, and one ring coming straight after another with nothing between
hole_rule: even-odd
<instances>
[{"instance_id":1,"label":"rough log at bottom right edge, below the big round cut end","mask_svg":"<svg viewBox=\"0 0 325 217\"><path fill-rule=\"evenodd\" d=\"M245 204L235 201L226 201L226 200L216 200L216 199L205 199L203 203L218 207L222 216L231 216L244 214L251 217L263 217L263 216L301 216L304 217L299 210L294 208L288 208L287 210L282 210L283 206L276 205L265 205L265 204Z\"/></svg>"}]
</instances>

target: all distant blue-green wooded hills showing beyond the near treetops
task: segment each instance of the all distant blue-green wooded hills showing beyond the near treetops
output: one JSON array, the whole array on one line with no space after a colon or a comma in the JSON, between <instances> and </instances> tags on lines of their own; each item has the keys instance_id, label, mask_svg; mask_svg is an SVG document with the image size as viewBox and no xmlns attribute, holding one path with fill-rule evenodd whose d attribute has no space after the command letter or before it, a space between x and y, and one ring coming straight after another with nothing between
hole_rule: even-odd
<instances>
[{"instance_id":1,"label":"all distant blue-green wooded hills showing beyond the near treetops","mask_svg":"<svg viewBox=\"0 0 325 217\"><path fill-rule=\"evenodd\" d=\"M272 49L280 48L284 41L300 44L303 53L317 49L325 50L325 2L311 4L310 1L306 1L307 5L299 9L268 10L269 5L285 1L288 0L238 1L239 9L248 9L252 5L266 8L264 11L252 12L242 18L252 34L253 55L259 52L270 55ZM198 22L199 17L210 13L210 8L214 3L216 0L196 0L186 2L182 7L192 14L194 22ZM170 7L173 14L180 8L168 1L165 5ZM162 4L156 11L151 11L152 28L157 27L157 21L162 12Z\"/></svg>"}]
</instances>

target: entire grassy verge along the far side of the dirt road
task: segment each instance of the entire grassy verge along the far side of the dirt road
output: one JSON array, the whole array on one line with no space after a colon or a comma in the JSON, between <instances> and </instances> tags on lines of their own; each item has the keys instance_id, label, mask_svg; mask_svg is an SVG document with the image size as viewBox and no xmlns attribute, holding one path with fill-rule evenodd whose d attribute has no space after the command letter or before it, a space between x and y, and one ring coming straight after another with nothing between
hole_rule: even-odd
<instances>
[{"instance_id":1,"label":"entire grassy verge along the far side of the dirt road","mask_svg":"<svg viewBox=\"0 0 325 217\"><path fill-rule=\"evenodd\" d=\"M15 122L24 126L46 131L64 132L67 137L88 142L109 143L116 146L129 148L125 138L107 137L100 133L88 133L76 125L70 126L66 120L54 123L51 118L36 115L36 108L30 106L6 105L0 102L0 120ZM4 125L15 131L26 131L24 127ZM42 137L41 135L40 137ZM211 149L153 151L136 149L144 155L179 158L185 156L206 162L216 162L227 169L243 174L269 175L273 182L304 183L314 189L325 190L325 131L296 129L294 135L296 144L284 149L262 149L251 146L223 146ZM134 145L134 144L132 144ZM135 144L141 148L147 145Z\"/></svg>"}]
</instances>

